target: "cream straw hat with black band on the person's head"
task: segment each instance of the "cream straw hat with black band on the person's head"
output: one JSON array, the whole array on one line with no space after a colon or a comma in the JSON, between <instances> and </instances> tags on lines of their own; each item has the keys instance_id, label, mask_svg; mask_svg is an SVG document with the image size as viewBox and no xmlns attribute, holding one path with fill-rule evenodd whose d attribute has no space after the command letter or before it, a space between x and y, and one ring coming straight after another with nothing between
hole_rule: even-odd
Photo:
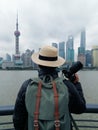
<instances>
[{"instance_id":1,"label":"cream straw hat with black band on the person's head","mask_svg":"<svg viewBox=\"0 0 98 130\"><path fill-rule=\"evenodd\" d=\"M65 62L65 59L58 56L57 48L53 46L44 46L38 53L34 53L31 58L36 64L49 67L58 67Z\"/></svg>"}]
</instances>

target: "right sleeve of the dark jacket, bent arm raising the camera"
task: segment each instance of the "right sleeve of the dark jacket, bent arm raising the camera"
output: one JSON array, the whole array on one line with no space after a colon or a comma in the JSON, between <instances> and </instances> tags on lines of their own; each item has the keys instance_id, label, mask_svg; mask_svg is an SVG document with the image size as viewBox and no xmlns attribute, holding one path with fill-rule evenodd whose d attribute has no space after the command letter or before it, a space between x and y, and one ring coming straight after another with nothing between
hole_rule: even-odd
<instances>
[{"instance_id":1,"label":"right sleeve of the dark jacket, bent arm raising the camera","mask_svg":"<svg viewBox=\"0 0 98 130\"><path fill-rule=\"evenodd\" d=\"M69 92L69 111L70 113L81 114L86 110L86 101L84 98L80 82L72 83L64 80Z\"/></svg>"}]
</instances>

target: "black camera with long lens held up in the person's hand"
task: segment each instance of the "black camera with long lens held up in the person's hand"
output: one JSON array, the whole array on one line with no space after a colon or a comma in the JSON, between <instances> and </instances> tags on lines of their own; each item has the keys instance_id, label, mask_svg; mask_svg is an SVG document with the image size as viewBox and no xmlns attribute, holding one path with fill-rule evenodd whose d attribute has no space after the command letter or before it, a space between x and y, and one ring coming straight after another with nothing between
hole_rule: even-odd
<instances>
[{"instance_id":1,"label":"black camera with long lens held up in the person's hand","mask_svg":"<svg viewBox=\"0 0 98 130\"><path fill-rule=\"evenodd\" d=\"M83 64L80 61L75 62L69 69L62 69L62 73L66 78L68 78L70 81L75 80L75 73L78 72L80 69L83 68Z\"/></svg>"}]
</instances>

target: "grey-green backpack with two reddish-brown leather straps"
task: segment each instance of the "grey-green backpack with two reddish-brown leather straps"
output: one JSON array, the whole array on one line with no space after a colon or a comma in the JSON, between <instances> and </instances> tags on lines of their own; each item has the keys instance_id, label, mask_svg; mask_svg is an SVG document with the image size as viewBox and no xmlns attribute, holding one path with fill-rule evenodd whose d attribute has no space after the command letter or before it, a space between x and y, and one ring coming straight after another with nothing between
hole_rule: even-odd
<instances>
[{"instance_id":1,"label":"grey-green backpack with two reddish-brown leather straps","mask_svg":"<svg viewBox=\"0 0 98 130\"><path fill-rule=\"evenodd\" d=\"M28 130L70 130L68 102L68 90L62 78L49 83L33 79L25 95Z\"/></svg>"}]
</instances>

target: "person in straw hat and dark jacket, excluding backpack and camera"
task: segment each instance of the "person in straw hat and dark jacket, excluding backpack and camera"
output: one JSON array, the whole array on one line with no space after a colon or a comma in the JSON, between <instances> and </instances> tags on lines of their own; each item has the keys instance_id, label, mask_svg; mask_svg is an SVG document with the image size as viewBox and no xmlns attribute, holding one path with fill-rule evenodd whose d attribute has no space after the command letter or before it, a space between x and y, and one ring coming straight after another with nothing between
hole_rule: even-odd
<instances>
[{"instance_id":1,"label":"person in straw hat and dark jacket, excluding backpack and camera","mask_svg":"<svg viewBox=\"0 0 98 130\"><path fill-rule=\"evenodd\" d=\"M33 62L35 62L39 66L38 77L41 81L44 81L46 84L50 83L51 80L55 81L56 79L60 78L58 76L57 67L65 63L65 59L58 56L57 51L58 50L55 47L44 46L43 48L40 49L38 53L34 53L32 55ZM63 82L62 84L64 84L63 85L64 90L65 88L68 89L69 113L81 114L86 109L86 102L84 99L81 84L79 82L79 77L77 74L75 74L75 76L76 78L73 82L64 79L62 81ZM25 93L28 88L27 86L31 81L32 79L29 79L23 83L16 99L14 115L13 115L13 123L14 123L15 130L24 130L24 129L27 130L28 112L27 112L27 107L25 102L25 98L26 98ZM63 107L63 105L59 107ZM67 124L69 125L70 122L68 122ZM70 128L68 127L67 130L69 129Z\"/></svg>"}]
</instances>

